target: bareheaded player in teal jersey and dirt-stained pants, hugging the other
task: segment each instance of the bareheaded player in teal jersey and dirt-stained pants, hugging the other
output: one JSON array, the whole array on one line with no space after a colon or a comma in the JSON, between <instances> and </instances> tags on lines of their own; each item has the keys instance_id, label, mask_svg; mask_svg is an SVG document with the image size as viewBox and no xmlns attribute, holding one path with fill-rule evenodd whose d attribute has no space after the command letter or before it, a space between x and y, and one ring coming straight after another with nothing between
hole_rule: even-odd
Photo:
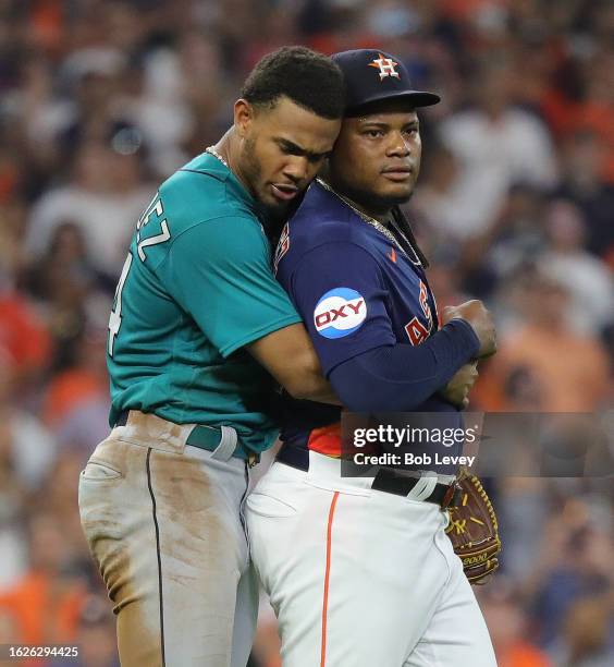
<instances>
[{"instance_id":1,"label":"bareheaded player in teal jersey and dirt-stained pants, hugging the other","mask_svg":"<svg viewBox=\"0 0 614 667\"><path fill-rule=\"evenodd\" d=\"M277 435L273 386L334 401L271 272L265 227L311 181L343 113L331 60L255 68L214 147L162 184L109 319L110 436L79 481L122 665L245 665L257 613L243 502Z\"/></svg>"}]
</instances>

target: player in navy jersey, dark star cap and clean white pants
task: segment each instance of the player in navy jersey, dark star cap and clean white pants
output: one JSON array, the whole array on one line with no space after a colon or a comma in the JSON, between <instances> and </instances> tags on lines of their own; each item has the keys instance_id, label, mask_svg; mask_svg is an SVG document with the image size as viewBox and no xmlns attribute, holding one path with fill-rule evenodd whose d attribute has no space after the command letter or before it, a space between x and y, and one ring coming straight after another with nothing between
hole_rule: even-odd
<instances>
[{"instance_id":1,"label":"player in navy jersey, dark star cap and clean white pants","mask_svg":"<svg viewBox=\"0 0 614 667\"><path fill-rule=\"evenodd\" d=\"M345 119L321 178L283 230L278 279L351 411L462 424L476 361L495 349L480 302L439 322L427 262L397 205L420 165L400 59L339 53ZM340 409L286 402L283 446L247 501L251 555L284 667L492 667L487 627L444 533L455 469L341 476Z\"/></svg>"}]
</instances>

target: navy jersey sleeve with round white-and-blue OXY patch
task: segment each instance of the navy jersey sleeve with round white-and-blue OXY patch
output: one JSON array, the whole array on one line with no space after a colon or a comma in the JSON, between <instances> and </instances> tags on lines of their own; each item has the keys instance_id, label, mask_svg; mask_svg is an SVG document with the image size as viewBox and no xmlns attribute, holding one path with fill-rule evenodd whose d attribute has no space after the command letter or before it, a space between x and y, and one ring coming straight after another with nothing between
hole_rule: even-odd
<instances>
[{"instance_id":1,"label":"navy jersey sleeve with round white-and-blue OXY patch","mask_svg":"<svg viewBox=\"0 0 614 667\"><path fill-rule=\"evenodd\" d=\"M395 343L380 267L359 245L319 245L281 280L287 283L327 377L344 361Z\"/></svg>"}]
</instances>

